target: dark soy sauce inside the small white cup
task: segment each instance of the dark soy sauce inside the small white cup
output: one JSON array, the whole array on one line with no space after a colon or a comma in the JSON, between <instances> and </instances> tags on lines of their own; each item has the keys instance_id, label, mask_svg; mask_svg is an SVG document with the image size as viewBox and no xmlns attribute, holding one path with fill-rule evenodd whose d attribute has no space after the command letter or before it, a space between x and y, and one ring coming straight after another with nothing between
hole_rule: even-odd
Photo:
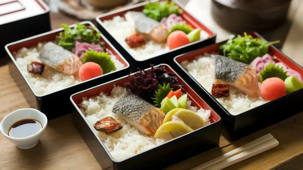
<instances>
[{"instance_id":1,"label":"dark soy sauce inside the small white cup","mask_svg":"<svg viewBox=\"0 0 303 170\"><path fill-rule=\"evenodd\" d=\"M39 132L42 124L36 119L22 119L15 122L8 130L8 136L24 138Z\"/></svg>"}]
</instances>

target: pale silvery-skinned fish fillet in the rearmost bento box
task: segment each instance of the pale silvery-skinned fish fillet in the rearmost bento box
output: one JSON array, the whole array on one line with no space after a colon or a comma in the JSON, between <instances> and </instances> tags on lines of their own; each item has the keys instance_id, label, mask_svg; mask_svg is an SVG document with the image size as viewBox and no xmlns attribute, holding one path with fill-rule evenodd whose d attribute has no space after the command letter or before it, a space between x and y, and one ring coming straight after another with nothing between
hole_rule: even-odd
<instances>
[{"instance_id":1,"label":"pale silvery-skinned fish fillet in the rearmost bento box","mask_svg":"<svg viewBox=\"0 0 303 170\"><path fill-rule=\"evenodd\" d=\"M141 35L146 40L164 42L168 36L168 30L160 22L149 18L142 12L128 11L124 15L126 21L132 26L136 34Z\"/></svg>"}]
</instances>

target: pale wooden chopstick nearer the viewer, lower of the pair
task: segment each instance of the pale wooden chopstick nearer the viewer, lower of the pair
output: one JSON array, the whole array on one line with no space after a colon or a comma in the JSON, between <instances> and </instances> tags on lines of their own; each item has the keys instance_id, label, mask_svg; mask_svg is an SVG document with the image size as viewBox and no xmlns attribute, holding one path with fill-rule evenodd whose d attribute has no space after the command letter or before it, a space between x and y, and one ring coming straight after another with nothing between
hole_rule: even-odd
<instances>
[{"instance_id":1,"label":"pale wooden chopstick nearer the viewer, lower of the pair","mask_svg":"<svg viewBox=\"0 0 303 170\"><path fill-rule=\"evenodd\" d=\"M267 142L262 143L261 145L255 146L251 149L248 149L247 151L241 152L238 155L235 155L231 158L225 159L224 161L219 162L218 164L212 165L208 168L205 168L204 170L221 170L223 168L226 168L230 165L233 165L235 163L238 163L240 161L243 161L247 158L250 158L252 156L258 155L261 152L267 151L275 146L278 146L279 142L277 139L273 138Z\"/></svg>"}]
</instances>

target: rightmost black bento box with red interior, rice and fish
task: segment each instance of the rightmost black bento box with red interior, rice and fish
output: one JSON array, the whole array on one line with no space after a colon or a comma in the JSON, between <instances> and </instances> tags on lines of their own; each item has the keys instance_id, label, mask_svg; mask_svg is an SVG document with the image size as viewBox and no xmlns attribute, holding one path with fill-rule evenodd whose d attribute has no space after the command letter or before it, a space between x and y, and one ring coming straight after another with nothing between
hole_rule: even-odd
<instances>
[{"instance_id":1,"label":"rightmost black bento box with red interior, rice and fish","mask_svg":"<svg viewBox=\"0 0 303 170\"><path fill-rule=\"evenodd\" d=\"M264 40L258 33L252 32L248 34L250 35ZM218 54L219 51L219 54L222 54L219 47L226 42L209 45L174 58L176 71L222 117L222 134L225 138L235 141L303 111L301 106L303 89L300 89L303 86L298 82L302 81L303 75L300 65L273 45L269 45L267 54L255 58L250 65L239 64L240 62L235 62L229 57L211 55ZM238 68L235 68L235 65ZM240 73L237 71L244 68L251 71ZM220 74L225 71L228 74L220 78ZM243 78L243 75L247 78ZM232 79L232 76L238 79ZM253 82L255 78L258 81L262 78L263 82ZM247 83L245 84L247 89L241 81ZM218 84L215 84L216 82ZM301 87L296 91L289 89L290 82L295 82L294 86L298 84ZM223 85L220 87L220 84ZM255 95L250 93L252 90Z\"/></svg>"}]
</instances>

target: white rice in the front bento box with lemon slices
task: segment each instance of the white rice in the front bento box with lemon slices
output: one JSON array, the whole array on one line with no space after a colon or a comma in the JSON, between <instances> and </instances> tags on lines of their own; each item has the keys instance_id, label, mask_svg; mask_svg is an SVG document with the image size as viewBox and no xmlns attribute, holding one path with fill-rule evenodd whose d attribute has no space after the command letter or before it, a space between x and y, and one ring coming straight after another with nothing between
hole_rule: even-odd
<instances>
[{"instance_id":1,"label":"white rice in the front bento box with lemon slices","mask_svg":"<svg viewBox=\"0 0 303 170\"><path fill-rule=\"evenodd\" d=\"M85 115L86 120L92 127L98 120L107 116L113 117L123 126L121 130L110 135L106 135L104 132L96 131L94 129L116 161L124 160L166 142L163 139L155 139L153 136L150 137L148 135L140 134L137 129L125 121L120 120L111 112L115 102L118 101L125 91L126 88L116 87L114 85L110 95L101 92L99 96L83 98L82 103L79 105L81 112ZM197 111L197 107L192 107L190 104L191 101L188 101L188 109L198 112L198 115L200 115L207 124L210 124L209 116L211 111L204 109L199 109Z\"/></svg>"}]
</instances>

